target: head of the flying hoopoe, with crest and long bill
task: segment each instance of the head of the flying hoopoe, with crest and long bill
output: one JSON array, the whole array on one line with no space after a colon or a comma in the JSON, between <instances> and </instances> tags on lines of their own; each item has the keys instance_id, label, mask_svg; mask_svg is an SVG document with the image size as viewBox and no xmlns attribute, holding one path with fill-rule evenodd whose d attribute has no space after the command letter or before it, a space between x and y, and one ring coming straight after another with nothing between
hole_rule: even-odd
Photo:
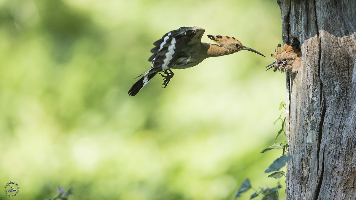
<instances>
[{"instance_id":1,"label":"head of the flying hoopoe, with crest and long bill","mask_svg":"<svg viewBox=\"0 0 356 200\"><path fill-rule=\"evenodd\" d=\"M213 40L216 43L220 44L221 47L224 47L227 50L226 54L236 53L241 50L247 50L260 54L263 57L266 57L262 53L256 51L255 49L244 46L239 40L237 40L234 37L213 36L213 35L208 35L208 37L210 38L210 40Z\"/></svg>"}]
</instances>

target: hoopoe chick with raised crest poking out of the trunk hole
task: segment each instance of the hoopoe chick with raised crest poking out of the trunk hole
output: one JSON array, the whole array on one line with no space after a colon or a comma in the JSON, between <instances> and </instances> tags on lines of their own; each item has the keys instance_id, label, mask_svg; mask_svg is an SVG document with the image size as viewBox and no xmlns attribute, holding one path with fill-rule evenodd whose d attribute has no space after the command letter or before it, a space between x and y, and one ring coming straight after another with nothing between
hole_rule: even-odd
<instances>
[{"instance_id":1,"label":"hoopoe chick with raised crest poking out of the trunk hole","mask_svg":"<svg viewBox=\"0 0 356 200\"><path fill-rule=\"evenodd\" d=\"M267 67L272 66L268 69L274 67L273 72L276 72L278 69L281 73L284 71L295 73L298 71L302 62L302 51L300 50L299 41L294 41L290 44L290 40L288 40L283 46L283 51L281 51L281 44L278 44L277 50L274 49L274 52L276 52L276 56L273 54L271 56L277 59L277 61L269 64Z\"/></svg>"}]
</instances>

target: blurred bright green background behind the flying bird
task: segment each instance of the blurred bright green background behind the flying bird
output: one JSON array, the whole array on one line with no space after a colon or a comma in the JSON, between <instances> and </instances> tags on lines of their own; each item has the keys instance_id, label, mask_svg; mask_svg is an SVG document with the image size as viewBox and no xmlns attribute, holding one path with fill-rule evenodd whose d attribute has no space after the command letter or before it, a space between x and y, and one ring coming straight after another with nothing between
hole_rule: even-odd
<instances>
[{"instance_id":1,"label":"blurred bright green background behind the flying bird","mask_svg":"<svg viewBox=\"0 0 356 200\"><path fill-rule=\"evenodd\" d=\"M130 97L152 43L181 26L267 58L208 58ZM284 75L265 72L281 33L275 0L0 0L0 185L21 187L0 199L53 198L58 185L123 200L233 199L246 177L276 186L264 170L282 152L260 152L286 98Z\"/></svg>"}]
</instances>

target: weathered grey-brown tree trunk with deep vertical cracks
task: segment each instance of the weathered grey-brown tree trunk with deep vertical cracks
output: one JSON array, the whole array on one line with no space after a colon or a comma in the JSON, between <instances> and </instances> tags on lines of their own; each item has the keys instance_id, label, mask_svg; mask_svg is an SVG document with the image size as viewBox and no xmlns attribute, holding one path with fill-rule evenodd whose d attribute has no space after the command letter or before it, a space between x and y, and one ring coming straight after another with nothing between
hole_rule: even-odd
<instances>
[{"instance_id":1,"label":"weathered grey-brown tree trunk with deep vertical cracks","mask_svg":"<svg viewBox=\"0 0 356 200\"><path fill-rule=\"evenodd\" d=\"M287 199L356 199L356 1L277 2L303 53L287 76Z\"/></svg>"}]
</instances>

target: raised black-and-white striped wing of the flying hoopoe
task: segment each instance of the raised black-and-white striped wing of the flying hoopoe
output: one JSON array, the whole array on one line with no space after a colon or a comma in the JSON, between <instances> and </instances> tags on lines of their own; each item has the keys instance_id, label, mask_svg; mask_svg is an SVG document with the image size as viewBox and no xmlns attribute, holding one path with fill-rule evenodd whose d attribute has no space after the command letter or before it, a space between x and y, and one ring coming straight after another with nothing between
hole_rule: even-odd
<instances>
[{"instance_id":1,"label":"raised black-and-white striped wing of the flying hoopoe","mask_svg":"<svg viewBox=\"0 0 356 200\"><path fill-rule=\"evenodd\" d=\"M160 40L153 43L154 48L151 49L153 55L148 59L151 62L155 72L167 70L176 62L183 47L187 45L199 27L181 27L166 33Z\"/></svg>"}]
</instances>

